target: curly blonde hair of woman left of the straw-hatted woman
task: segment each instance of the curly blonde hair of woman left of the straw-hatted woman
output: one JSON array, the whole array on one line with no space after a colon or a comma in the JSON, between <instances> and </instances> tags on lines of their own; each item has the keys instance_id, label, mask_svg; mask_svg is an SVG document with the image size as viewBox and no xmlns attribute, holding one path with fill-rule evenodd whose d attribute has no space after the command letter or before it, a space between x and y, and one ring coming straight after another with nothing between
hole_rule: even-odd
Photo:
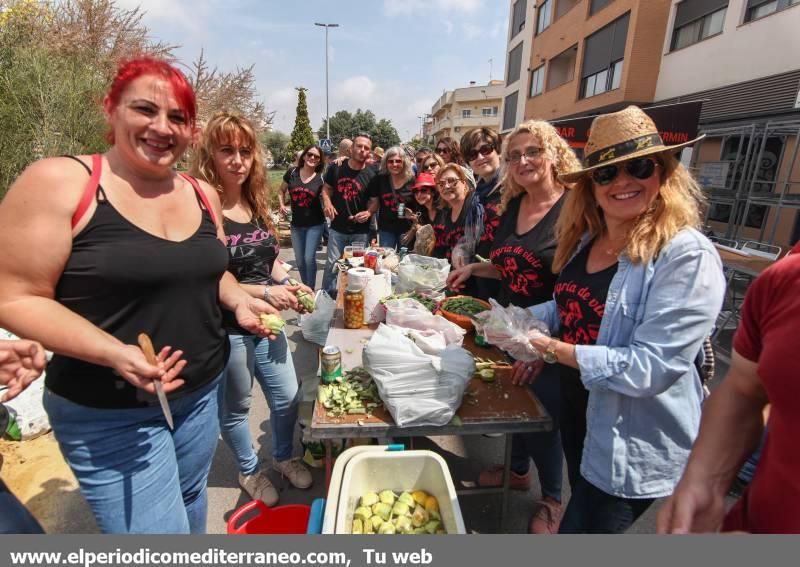
<instances>
[{"instance_id":1,"label":"curly blonde hair of woman left of the straw-hatted woman","mask_svg":"<svg viewBox=\"0 0 800 567\"><path fill-rule=\"evenodd\" d=\"M558 130L552 124L544 120L526 120L505 136L501 151L504 161L508 162L508 146L520 134L532 134L539 138L545 157L553 163L552 175L556 183L558 183L560 174L570 173L581 168L575 152L569 147L567 141L558 134ZM500 198L499 214L505 212L512 199L525 192L525 188L514 181L509 170L508 164L504 164L500 179L503 192Z\"/></svg>"}]
</instances>

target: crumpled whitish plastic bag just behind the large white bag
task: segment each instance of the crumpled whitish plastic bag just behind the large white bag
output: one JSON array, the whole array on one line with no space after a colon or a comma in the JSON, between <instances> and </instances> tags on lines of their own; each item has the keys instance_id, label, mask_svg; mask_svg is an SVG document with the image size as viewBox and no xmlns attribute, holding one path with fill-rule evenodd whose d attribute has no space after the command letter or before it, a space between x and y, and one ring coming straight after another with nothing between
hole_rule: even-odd
<instances>
[{"instance_id":1,"label":"crumpled whitish plastic bag just behind the large white bag","mask_svg":"<svg viewBox=\"0 0 800 567\"><path fill-rule=\"evenodd\" d=\"M402 327L426 354L439 354L449 345L460 346L466 331L441 315L434 315L415 299L386 302L386 324Z\"/></svg>"}]
</instances>

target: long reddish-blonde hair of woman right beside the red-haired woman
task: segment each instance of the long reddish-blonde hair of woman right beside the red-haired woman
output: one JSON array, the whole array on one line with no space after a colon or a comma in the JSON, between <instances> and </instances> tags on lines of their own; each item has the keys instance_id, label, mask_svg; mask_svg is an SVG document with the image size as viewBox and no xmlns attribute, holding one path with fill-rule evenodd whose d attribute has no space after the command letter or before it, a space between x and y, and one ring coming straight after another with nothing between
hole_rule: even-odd
<instances>
[{"instance_id":1,"label":"long reddish-blonde hair of woman right beside the red-haired woman","mask_svg":"<svg viewBox=\"0 0 800 567\"><path fill-rule=\"evenodd\" d=\"M214 167L214 149L233 142L237 137L250 146L253 152L253 165L250 174L242 184L242 196L253 217L261 221L277 236L270 215L270 188L264 175L264 149L253 124L244 116L232 112L218 112L211 117L200 134L195 147L190 173L210 183L224 197L219 172Z\"/></svg>"}]
</instances>

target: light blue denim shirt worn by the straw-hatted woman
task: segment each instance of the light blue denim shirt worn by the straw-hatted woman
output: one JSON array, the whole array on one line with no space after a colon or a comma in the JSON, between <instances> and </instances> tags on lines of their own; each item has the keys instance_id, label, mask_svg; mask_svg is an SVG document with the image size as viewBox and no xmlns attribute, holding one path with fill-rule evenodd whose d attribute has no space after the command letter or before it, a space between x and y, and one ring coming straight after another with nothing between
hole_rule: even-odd
<instances>
[{"instance_id":1,"label":"light blue denim shirt worn by the straw-hatted woman","mask_svg":"<svg viewBox=\"0 0 800 567\"><path fill-rule=\"evenodd\" d=\"M576 254L590 241L584 235ZM619 257L597 343L575 349L589 391L581 475L591 484L625 498L672 493L700 426L694 361L724 293L719 255L694 229L649 262ZM559 331L554 300L530 310Z\"/></svg>"}]
</instances>

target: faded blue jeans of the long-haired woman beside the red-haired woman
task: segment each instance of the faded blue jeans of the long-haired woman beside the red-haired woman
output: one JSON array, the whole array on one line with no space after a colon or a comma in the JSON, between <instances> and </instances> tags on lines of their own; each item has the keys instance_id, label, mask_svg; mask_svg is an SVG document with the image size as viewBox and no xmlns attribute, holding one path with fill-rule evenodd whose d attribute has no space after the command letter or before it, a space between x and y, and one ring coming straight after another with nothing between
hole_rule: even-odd
<instances>
[{"instance_id":1,"label":"faded blue jeans of the long-haired woman beside the red-haired woman","mask_svg":"<svg viewBox=\"0 0 800 567\"><path fill-rule=\"evenodd\" d=\"M281 333L274 341L231 334L230 341L231 354L219 393L220 428L241 473L253 474L259 469L247 419L253 397L253 377L261 385L269 404L272 456L278 461L292 456L300 389L286 333Z\"/></svg>"}]
</instances>

